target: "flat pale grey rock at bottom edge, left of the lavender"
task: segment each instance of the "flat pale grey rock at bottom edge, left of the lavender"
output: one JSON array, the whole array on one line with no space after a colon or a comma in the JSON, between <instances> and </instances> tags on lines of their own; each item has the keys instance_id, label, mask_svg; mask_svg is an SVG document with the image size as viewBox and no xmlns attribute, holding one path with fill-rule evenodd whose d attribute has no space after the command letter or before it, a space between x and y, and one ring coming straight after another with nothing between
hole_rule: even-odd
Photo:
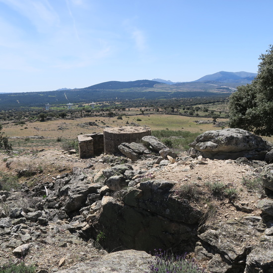
<instances>
[{"instance_id":1,"label":"flat pale grey rock at bottom edge, left of the lavender","mask_svg":"<svg viewBox=\"0 0 273 273\"><path fill-rule=\"evenodd\" d=\"M124 250L77 264L57 273L143 273L149 271L150 260L151 255L144 251Z\"/></svg>"}]
</instances>

